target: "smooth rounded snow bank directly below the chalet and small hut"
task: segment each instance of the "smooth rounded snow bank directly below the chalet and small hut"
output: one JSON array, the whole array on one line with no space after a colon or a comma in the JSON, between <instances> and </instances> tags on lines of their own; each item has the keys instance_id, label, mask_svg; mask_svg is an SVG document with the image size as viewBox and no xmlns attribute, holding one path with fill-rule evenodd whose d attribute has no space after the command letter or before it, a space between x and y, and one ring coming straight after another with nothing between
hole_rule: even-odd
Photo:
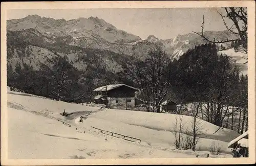
<instances>
[{"instance_id":1,"label":"smooth rounded snow bank directly below the chalet and small hut","mask_svg":"<svg viewBox=\"0 0 256 166\"><path fill-rule=\"evenodd\" d=\"M121 122L125 124L140 126L148 129L154 129L157 131L173 131L173 126L175 118L178 119L179 116L176 114L163 114L163 113L153 113L153 112L138 112L138 111L128 111L128 110L114 110L108 109L107 111L102 111L97 113L97 118L103 120L108 120L111 122ZM193 117L183 115L184 128L191 129L191 122ZM233 138L237 137L239 134L230 129L219 129L218 126L202 121L201 125L204 127L206 138L216 139L221 141L229 142ZM215 133L216 130L218 132ZM185 132L185 131L184 131ZM215 133L215 134L214 134Z\"/></svg>"}]
</instances>

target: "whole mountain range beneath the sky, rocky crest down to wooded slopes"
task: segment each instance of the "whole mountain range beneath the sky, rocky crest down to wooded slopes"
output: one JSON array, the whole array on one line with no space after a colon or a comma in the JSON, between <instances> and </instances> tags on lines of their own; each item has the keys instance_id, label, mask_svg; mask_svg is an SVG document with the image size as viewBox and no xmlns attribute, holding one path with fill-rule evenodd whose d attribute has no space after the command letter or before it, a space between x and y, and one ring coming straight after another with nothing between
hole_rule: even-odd
<instances>
[{"instance_id":1,"label":"whole mountain range beneath the sky, rocky crest down to wooded slopes","mask_svg":"<svg viewBox=\"0 0 256 166\"><path fill-rule=\"evenodd\" d=\"M206 31L210 40L236 39L228 31ZM9 62L25 61L37 66L45 57L54 56L52 51L69 56L74 65L83 69L87 64L104 63L118 72L119 60L134 55L143 59L147 51L159 45L170 55L179 58L188 49L206 43L195 33L178 35L172 39L158 39L154 35L142 40L139 36L118 30L98 17L78 19L53 19L29 15L22 19L7 21L7 57ZM231 43L225 43L228 47ZM92 60L95 59L94 61ZM83 59L83 60L81 60Z\"/></svg>"}]
</instances>

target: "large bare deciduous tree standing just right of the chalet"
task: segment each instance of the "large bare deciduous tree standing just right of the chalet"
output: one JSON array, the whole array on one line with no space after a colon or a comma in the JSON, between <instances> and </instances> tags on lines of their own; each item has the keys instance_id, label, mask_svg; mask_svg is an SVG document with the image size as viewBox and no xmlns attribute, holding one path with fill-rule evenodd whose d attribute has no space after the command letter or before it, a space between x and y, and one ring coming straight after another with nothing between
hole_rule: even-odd
<instances>
[{"instance_id":1,"label":"large bare deciduous tree standing just right of the chalet","mask_svg":"<svg viewBox=\"0 0 256 166\"><path fill-rule=\"evenodd\" d=\"M148 52L145 61L125 62L123 68L139 86L139 93L148 112L161 112L160 104L170 87L170 58L161 48Z\"/></svg>"}]
</instances>

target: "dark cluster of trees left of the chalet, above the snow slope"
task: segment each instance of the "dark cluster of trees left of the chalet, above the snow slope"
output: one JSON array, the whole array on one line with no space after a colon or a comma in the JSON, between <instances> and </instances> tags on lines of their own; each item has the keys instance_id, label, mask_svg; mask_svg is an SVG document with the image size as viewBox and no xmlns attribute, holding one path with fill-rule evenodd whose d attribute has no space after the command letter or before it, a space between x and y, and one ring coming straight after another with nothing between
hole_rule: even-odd
<instances>
[{"instance_id":1,"label":"dark cluster of trees left of the chalet, above the snow slope","mask_svg":"<svg viewBox=\"0 0 256 166\"><path fill-rule=\"evenodd\" d=\"M94 87L92 80L77 70L67 56L55 55L47 58L45 63L40 63L38 70L26 63L17 63L13 70L8 64L8 86L57 101L90 99L91 88Z\"/></svg>"}]
</instances>

